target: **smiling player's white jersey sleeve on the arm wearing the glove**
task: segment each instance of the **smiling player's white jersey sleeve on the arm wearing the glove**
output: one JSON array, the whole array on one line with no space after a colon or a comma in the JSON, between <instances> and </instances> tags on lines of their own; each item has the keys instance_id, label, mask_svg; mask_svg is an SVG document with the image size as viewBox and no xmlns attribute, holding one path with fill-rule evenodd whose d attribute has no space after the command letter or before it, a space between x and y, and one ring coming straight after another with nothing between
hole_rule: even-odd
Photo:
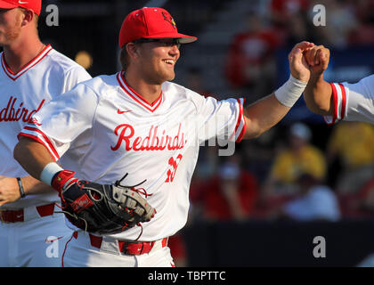
<instances>
[{"instance_id":1,"label":"smiling player's white jersey sleeve on the arm wearing the glove","mask_svg":"<svg viewBox=\"0 0 374 285\"><path fill-rule=\"evenodd\" d=\"M42 143L57 161L79 134L93 126L98 98L93 90L78 84L45 104L21 130L25 136Z\"/></svg>"}]
</instances>

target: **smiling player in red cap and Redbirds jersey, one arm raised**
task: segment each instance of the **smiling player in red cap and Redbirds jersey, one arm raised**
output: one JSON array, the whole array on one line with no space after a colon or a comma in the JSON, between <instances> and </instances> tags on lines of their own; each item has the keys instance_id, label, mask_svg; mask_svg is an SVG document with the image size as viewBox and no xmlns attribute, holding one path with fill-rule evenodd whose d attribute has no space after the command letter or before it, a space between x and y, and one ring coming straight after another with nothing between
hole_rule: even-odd
<instances>
[{"instance_id":1,"label":"smiling player in red cap and Redbirds jersey, one arm raised","mask_svg":"<svg viewBox=\"0 0 374 285\"><path fill-rule=\"evenodd\" d=\"M119 35L123 70L78 84L20 132L14 158L37 179L54 185L66 174L114 183L128 173L126 184L146 179L142 188L157 210L142 227L116 234L74 228L63 266L174 266L167 237L186 223L199 142L256 137L278 123L305 89L309 69L302 52L313 46L307 42L289 53L291 76L274 94L248 108L243 99L204 98L170 82L179 45L196 39L180 34L164 9L131 12Z\"/></svg>"}]
</instances>

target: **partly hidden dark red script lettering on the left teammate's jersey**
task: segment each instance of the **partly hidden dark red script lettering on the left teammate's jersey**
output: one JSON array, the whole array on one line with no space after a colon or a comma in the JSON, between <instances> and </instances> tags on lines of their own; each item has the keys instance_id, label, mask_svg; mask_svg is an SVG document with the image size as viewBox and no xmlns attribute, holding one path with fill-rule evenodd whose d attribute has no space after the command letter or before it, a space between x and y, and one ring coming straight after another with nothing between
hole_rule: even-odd
<instances>
[{"instance_id":1,"label":"partly hidden dark red script lettering on the left teammate's jersey","mask_svg":"<svg viewBox=\"0 0 374 285\"><path fill-rule=\"evenodd\" d=\"M23 102L20 102L20 106L18 109L14 109L14 105L17 101L17 98L11 98L9 99L8 104L6 107L0 111L0 122L12 122L12 121L19 121L22 119L24 122L28 122L32 115L34 115L38 110L40 110L45 103L45 100L43 99L42 102L40 102L39 107L37 107L36 110L28 110L23 106Z\"/></svg>"}]
</instances>

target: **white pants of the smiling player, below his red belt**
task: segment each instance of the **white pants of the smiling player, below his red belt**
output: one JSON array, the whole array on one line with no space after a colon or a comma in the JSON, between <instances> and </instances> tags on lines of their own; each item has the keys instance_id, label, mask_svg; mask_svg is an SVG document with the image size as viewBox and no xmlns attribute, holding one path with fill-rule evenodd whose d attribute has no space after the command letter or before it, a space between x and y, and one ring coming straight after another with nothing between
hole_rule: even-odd
<instances>
[{"instance_id":1,"label":"white pants of the smiling player, below his red belt","mask_svg":"<svg viewBox=\"0 0 374 285\"><path fill-rule=\"evenodd\" d=\"M76 238L77 237L77 238ZM63 267L173 267L170 248L162 247L157 240L147 254L138 256L125 255L119 252L118 240L103 237L102 247L91 245L87 232L77 232L71 236L62 256Z\"/></svg>"}]
</instances>

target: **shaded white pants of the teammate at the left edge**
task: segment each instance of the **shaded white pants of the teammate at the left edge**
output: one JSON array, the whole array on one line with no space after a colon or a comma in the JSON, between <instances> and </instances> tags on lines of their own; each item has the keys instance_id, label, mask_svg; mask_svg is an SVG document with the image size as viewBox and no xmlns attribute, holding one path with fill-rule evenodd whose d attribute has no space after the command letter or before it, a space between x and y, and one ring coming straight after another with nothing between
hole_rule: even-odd
<instances>
[{"instance_id":1,"label":"shaded white pants of the teammate at the left edge","mask_svg":"<svg viewBox=\"0 0 374 285\"><path fill-rule=\"evenodd\" d=\"M59 208L55 208L59 210ZM0 267L59 267L71 230L63 214L41 217L24 208L24 222L0 222Z\"/></svg>"}]
</instances>

